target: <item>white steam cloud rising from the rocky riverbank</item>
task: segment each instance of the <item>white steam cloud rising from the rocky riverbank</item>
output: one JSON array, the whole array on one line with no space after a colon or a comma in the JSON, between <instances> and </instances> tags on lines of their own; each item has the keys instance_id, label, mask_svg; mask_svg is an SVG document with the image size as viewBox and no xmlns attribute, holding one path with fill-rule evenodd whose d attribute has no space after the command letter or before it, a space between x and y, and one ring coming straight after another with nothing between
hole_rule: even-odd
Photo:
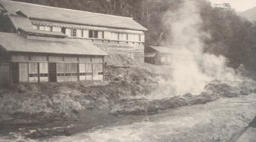
<instances>
[{"instance_id":1,"label":"white steam cloud rising from the rocky riverbank","mask_svg":"<svg viewBox=\"0 0 256 142\"><path fill-rule=\"evenodd\" d=\"M176 95L185 93L199 94L205 85L211 80L236 80L243 78L236 75L234 69L226 66L224 56L216 56L203 53L204 43L201 40L211 38L210 34L201 30L203 21L197 0L180 4L177 11L166 13L165 24L171 27L170 39L177 46L182 46L171 55L173 68L173 80L170 85L174 88ZM174 15L193 13L173 17ZM168 96L169 97L169 96Z\"/></svg>"}]
</instances>

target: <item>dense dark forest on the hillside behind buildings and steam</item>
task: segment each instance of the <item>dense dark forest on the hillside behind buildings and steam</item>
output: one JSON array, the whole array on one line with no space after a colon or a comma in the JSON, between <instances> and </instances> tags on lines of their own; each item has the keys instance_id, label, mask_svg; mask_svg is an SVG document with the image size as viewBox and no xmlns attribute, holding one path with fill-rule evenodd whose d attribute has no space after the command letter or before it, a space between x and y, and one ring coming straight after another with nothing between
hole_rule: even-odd
<instances>
[{"instance_id":1,"label":"dense dark forest on the hillside behind buildings and steam","mask_svg":"<svg viewBox=\"0 0 256 142\"><path fill-rule=\"evenodd\" d=\"M148 28L146 45L171 45L171 27L165 25L166 12L195 0L15 0L53 7L132 17ZM214 7L207 0L196 0L204 26L200 29L211 35L203 38L204 52L224 55L229 66L237 68L243 63L247 70L256 71L256 22L250 22L236 14L229 4Z\"/></svg>"}]
</instances>

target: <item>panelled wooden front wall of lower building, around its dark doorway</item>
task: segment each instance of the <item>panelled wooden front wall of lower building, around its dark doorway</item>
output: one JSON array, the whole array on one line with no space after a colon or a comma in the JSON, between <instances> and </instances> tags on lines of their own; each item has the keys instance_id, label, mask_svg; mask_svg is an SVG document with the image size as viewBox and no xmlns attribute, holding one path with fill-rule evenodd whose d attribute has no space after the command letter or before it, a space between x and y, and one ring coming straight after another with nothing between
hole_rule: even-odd
<instances>
[{"instance_id":1,"label":"panelled wooden front wall of lower building, around its dark doorway","mask_svg":"<svg viewBox=\"0 0 256 142\"><path fill-rule=\"evenodd\" d=\"M104 56L13 54L11 60L20 83L49 82L49 62L56 63L57 82L104 79Z\"/></svg>"}]
</instances>

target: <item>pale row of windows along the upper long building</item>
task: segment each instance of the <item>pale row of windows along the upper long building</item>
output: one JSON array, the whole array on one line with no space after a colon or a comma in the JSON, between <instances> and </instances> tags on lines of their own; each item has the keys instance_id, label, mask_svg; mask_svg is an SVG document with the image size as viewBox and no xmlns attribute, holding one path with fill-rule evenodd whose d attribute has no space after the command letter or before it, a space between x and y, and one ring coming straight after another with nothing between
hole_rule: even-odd
<instances>
[{"instance_id":1,"label":"pale row of windows along the upper long building","mask_svg":"<svg viewBox=\"0 0 256 142\"><path fill-rule=\"evenodd\" d=\"M66 28L66 27L51 27L51 26L39 26L33 25L34 29L62 32L69 37L83 37L83 38L98 38L107 40L120 40L120 41L133 41L133 42L144 42L145 36L140 34L127 34L109 31L99 30L83 30L77 28Z\"/></svg>"}]
</instances>

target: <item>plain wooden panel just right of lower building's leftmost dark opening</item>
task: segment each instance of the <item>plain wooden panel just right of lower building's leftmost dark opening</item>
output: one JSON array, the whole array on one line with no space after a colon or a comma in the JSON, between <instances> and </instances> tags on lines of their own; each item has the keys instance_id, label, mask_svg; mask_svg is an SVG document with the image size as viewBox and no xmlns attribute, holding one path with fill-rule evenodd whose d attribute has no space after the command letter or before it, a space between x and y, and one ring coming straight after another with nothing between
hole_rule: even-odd
<instances>
[{"instance_id":1,"label":"plain wooden panel just right of lower building's leftmost dark opening","mask_svg":"<svg viewBox=\"0 0 256 142\"><path fill-rule=\"evenodd\" d=\"M19 76L20 83L28 83L29 82L29 68L28 63L19 63Z\"/></svg>"}]
</instances>

